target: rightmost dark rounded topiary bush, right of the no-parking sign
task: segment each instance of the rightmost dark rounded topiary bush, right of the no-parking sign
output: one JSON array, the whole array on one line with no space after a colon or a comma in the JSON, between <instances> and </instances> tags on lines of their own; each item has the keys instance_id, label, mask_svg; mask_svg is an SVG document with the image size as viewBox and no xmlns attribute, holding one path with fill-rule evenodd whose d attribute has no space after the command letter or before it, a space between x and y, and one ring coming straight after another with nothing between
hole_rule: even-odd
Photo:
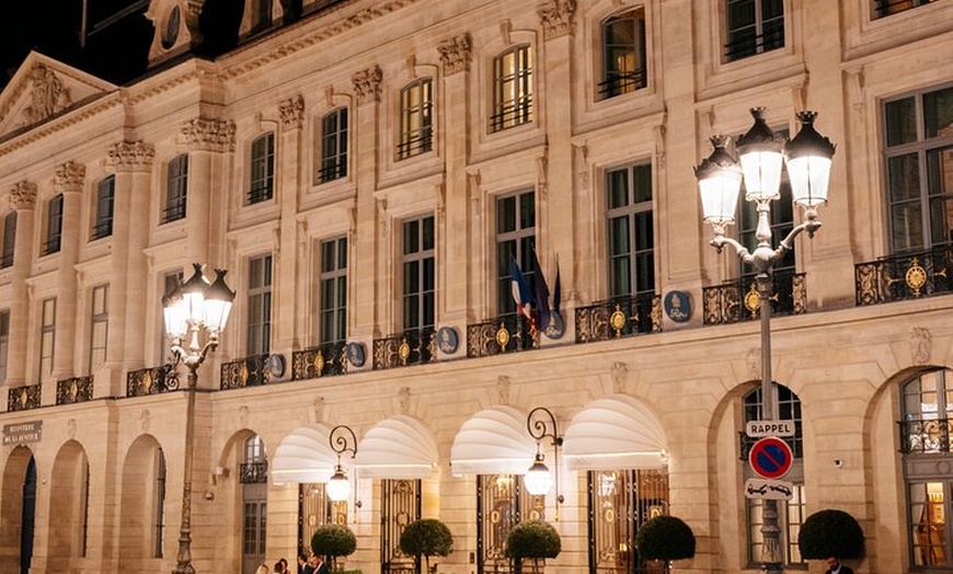
<instances>
[{"instance_id":1,"label":"rightmost dark rounded topiary bush, right of the no-parking sign","mask_svg":"<svg viewBox=\"0 0 953 574\"><path fill-rule=\"evenodd\" d=\"M857 519L843 510L818 510L801 525L797 547L805 559L858 559L863 555L863 530Z\"/></svg>"}]
</instances>

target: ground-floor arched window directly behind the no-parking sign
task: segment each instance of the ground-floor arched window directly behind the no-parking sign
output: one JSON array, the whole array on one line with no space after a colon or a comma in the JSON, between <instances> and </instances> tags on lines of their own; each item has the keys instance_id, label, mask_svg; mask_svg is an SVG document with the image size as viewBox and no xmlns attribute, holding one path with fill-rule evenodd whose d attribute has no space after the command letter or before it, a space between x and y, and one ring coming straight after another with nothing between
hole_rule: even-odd
<instances>
[{"instance_id":1,"label":"ground-floor arched window directly behind the no-parking sign","mask_svg":"<svg viewBox=\"0 0 953 574\"><path fill-rule=\"evenodd\" d=\"M797 533L801 531L801 524L806 518L805 497L804 497L804 466L802 455L804 452L804 438L801 426L801 399L794 394L791 389L782 384L774 383L774 393L778 397L777 416L779 421L793 421L794 436L788 437L788 446L794 454L794 464L791 471L783 480L793 484L793 494L790 501L779 501L778 504L778 525L781 527L781 548L783 551L784 563L788 565L801 564L805 561L801 558L801 550L797 548ZM748 392L744 398L744 422L745 424L751 421L761 421L762 416L762 400L761 388ZM748 466L748 452L755 443L755 439L742 435L742 456L744 464L744 475L746 479L756 478L754 471ZM758 498L745 498L746 512L745 521L747 527L747 549L748 563L755 564L760 562L761 547L765 543L761 526L763 519L763 501Z\"/></svg>"}]
</instances>

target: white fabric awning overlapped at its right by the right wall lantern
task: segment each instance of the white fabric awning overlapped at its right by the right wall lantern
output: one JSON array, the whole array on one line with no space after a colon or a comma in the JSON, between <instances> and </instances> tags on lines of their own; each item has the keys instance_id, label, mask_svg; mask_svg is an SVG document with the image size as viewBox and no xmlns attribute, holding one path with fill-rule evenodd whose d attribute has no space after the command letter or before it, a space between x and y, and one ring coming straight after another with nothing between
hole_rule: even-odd
<instances>
[{"instance_id":1,"label":"white fabric awning overlapped at its right by the right wall lantern","mask_svg":"<svg viewBox=\"0 0 953 574\"><path fill-rule=\"evenodd\" d=\"M526 415L512 406L490 406L470 417L450 449L453 474L525 474L536 455Z\"/></svg>"}]
</instances>

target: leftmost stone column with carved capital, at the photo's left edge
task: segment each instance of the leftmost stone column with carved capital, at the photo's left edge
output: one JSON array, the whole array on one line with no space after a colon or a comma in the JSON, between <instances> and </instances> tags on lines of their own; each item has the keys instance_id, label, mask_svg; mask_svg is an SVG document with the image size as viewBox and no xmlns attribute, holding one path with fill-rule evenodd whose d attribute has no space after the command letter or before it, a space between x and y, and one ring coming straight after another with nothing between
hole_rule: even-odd
<instances>
[{"instance_id":1,"label":"leftmost stone column with carved capital, at the photo's left edge","mask_svg":"<svg viewBox=\"0 0 953 574\"><path fill-rule=\"evenodd\" d=\"M33 217L36 209L36 184L18 182L10 190L10 207L16 211L16 234L13 250L13 266L10 272L10 346L7 349L7 386L20 387L26 383L31 372L26 366L26 349L31 338L30 295L26 278L33 262ZM34 367L35 368L35 367ZM36 381L38 382L38 379ZM7 404L5 398L3 404Z\"/></svg>"}]
</instances>

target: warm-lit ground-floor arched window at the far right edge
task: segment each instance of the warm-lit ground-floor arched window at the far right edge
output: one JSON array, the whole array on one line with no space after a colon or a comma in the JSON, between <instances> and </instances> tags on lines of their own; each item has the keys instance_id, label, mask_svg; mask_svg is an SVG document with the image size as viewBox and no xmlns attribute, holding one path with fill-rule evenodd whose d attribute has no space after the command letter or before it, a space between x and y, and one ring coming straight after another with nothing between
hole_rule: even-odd
<instances>
[{"instance_id":1,"label":"warm-lit ground-floor arched window at the far right edge","mask_svg":"<svg viewBox=\"0 0 953 574\"><path fill-rule=\"evenodd\" d=\"M914 567L949 567L953 564L953 525L945 517L953 512L953 478L941 469L953 463L953 370L922 372L906 381L900 387L900 409L910 563Z\"/></svg>"}]
</instances>

